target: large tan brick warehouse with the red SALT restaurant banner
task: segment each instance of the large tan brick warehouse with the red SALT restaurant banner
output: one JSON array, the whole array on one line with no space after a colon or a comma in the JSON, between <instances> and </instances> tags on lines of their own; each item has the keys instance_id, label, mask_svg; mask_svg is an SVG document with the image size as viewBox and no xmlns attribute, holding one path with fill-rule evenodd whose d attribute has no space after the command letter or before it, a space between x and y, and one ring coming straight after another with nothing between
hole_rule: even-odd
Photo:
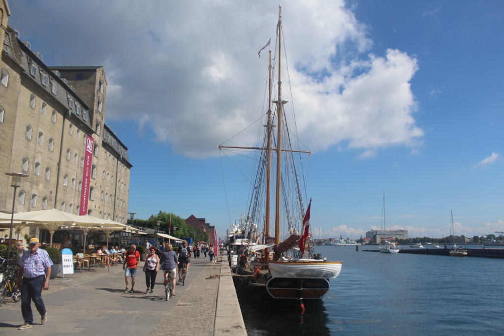
<instances>
[{"instance_id":1,"label":"large tan brick warehouse with the red SALT restaurant banner","mask_svg":"<svg viewBox=\"0 0 504 336\"><path fill-rule=\"evenodd\" d=\"M132 165L128 148L105 125L103 67L47 66L8 27L9 7L0 2L0 211L12 211L5 173L19 172L28 177L17 189L16 213L55 208L79 215L86 203L87 214L126 223ZM89 166L86 149L92 152ZM81 207L83 190L87 201Z\"/></svg>"}]
</instances>

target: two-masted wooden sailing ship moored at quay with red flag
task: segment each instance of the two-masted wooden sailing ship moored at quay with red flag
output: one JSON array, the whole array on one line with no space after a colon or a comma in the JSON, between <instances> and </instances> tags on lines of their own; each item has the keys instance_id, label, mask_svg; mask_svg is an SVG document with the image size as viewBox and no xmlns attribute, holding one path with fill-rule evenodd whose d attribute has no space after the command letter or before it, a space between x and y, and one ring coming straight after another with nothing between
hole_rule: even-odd
<instances>
[{"instance_id":1,"label":"two-masted wooden sailing ship moored at quay with red flag","mask_svg":"<svg viewBox=\"0 0 504 336\"><path fill-rule=\"evenodd\" d=\"M221 151L250 150L256 155L243 232L243 239L248 243L242 241L234 275L244 284L265 288L273 298L320 299L329 290L329 279L340 274L342 263L328 261L314 251L309 227L311 199L306 206L306 183L304 174L300 174L305 171L303 158L311 152L301 150L299 141L291 141L295 122L286 117L288 101L283 98L282 43L285 41L281 6L276 30L278 53L273 63L272 51L269 51L268 112L264 114L260 144L257 147L219 146ZM272 99L272 77L276 70L278 87Z\"/></svg>"}]
</instances>

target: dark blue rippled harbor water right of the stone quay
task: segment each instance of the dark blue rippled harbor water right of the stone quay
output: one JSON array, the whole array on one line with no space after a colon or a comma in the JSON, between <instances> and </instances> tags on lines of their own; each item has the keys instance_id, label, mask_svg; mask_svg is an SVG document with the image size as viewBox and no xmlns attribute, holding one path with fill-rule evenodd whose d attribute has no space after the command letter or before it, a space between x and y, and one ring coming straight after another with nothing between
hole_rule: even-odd
<instances>
[{"instance_id":1,"label":"dark blue rippled harbor water right of the stone quay","mask_svg":"<svg viewBox=\"0 0 504 336\"><path fill-rule=\"evenodd\" d=\"M363 251L377 248L317 246L343 267L322 300L304 300L304 313L238 286L247 334L504 334L504 259Z\"/></svg>"}]
</instances>

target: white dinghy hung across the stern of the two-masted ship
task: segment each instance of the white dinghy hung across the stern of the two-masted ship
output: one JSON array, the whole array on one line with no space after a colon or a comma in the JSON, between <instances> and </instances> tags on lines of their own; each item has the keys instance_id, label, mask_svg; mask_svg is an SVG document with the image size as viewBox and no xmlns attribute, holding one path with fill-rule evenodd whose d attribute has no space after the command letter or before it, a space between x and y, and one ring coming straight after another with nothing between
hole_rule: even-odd
<instances>
[{"instance_id":1,"label":"white dinghy hung across the stern of the two-masted ship","mask_svg":"<svg viewBox=\"0 0 504 336\"><path fill-rule=\"evenodd\" d=\"M335 279L340 275L341 261L270 261L269 269L273 278Z\"/></svg>"}]
</instances>

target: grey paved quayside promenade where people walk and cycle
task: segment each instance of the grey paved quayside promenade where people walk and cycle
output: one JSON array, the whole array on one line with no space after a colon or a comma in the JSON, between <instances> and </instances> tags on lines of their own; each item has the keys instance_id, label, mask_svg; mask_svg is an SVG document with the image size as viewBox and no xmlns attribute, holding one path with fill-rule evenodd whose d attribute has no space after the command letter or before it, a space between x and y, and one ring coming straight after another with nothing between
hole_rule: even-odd
<instances>
[{"instance_id":1,"label":"grey paved quayside promenade where people walk and cycle","mask_svg":"<svg viewBox=\"0 0 504 336\"><path fill-rule=\"evenodd\" d=\"M232 279L226 261L224 258L221 265L220 258L216 263L210 263L208 258L193 258L185 286L177 282L176 295L168 302L164 299L161 273L154 293L144 294L143 262L138 268L134 294L123 293L124 272L120 265L77 272L75 278L67 275L62 279L59 274L42 294L48 321L40 323L40 315L32 304L33 327L17 330L23 324L21 303L7 300L0 307L0 335L245 335L235 293L227 298L234 287L228 286ZM218 298L219 289L223 288L225 302ZM216 316L224 328L216 329Z\"/></svg>"}]
</instances>

